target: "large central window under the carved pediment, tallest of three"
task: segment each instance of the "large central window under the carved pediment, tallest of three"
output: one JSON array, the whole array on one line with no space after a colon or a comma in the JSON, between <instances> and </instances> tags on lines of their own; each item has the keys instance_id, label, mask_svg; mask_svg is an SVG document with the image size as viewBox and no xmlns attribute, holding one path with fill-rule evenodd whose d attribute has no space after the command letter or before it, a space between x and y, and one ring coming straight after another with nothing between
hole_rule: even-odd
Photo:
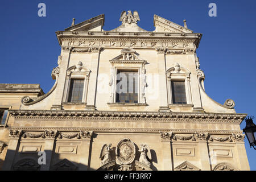
<instances>
[{"instance_id":1,"label":"large central window under the carved pediment, tallest of three","mask_svg":"<svg viewBox=\"0 0 256 182\"><path fill-rule=\"evenodd\" d=\"M116 102L138 103L138 71L118 71Z\"/></svg>"}]
</instances>

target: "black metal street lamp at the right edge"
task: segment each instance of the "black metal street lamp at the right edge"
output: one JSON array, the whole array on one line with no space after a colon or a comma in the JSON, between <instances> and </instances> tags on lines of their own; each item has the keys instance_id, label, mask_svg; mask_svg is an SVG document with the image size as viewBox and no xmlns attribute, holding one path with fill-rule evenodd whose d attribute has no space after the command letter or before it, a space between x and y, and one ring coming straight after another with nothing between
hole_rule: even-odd
<instances>
[{"instance_id":1,"label":"black metal street lamp at the right edge","mask_svg":"<svg viewBox=\"0 0 256 182\"><path fill-rule=\"evenodd\" d=\"M243 132L246 134L246 137L249 140L250 147L253 146L253 148L256 150L256 126L253 123L253 118L254 117L245 118L246 126L245 129L243 129Z\"/></svg>"}]
</instances>

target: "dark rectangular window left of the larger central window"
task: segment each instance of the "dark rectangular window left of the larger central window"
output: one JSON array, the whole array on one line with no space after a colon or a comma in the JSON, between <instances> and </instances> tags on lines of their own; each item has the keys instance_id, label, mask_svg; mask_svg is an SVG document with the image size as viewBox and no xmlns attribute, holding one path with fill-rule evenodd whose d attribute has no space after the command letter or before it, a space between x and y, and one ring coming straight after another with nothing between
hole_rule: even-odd
<instances>
[{"instance_id":1,"label":"dark rectangular window left of the larger central window","mask_svg":"<svg viewBox=\"0 0 256 182\"><path fill-rule=\"evenodd\" d=\"M72 79L69 86L68 102L82 102L84 80Z\"/></svg>"}]
</instances>

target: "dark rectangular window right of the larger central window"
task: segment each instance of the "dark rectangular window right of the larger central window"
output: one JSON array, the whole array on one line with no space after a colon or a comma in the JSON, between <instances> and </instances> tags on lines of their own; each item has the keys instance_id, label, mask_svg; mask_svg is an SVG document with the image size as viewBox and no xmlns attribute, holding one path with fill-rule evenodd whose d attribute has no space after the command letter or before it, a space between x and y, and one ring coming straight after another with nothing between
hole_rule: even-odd
<instances>
[{"instance_id":1,"label":"dark rectangular window right of the larger central window","mask_svg":"<svg viewBox=\"0 0 256 182\"><path fill-rule=\"evenodd\" d=\"M171 81L172 86L172 104L187 104L185 82Z\"/></svg>"}]
</instances>

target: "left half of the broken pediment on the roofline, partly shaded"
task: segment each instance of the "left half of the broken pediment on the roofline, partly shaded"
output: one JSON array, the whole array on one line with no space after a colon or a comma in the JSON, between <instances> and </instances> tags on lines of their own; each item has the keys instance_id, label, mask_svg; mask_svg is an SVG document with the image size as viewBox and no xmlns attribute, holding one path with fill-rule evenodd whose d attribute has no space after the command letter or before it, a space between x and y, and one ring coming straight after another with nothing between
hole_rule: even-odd
<instances>
[{"instance_id":1,"label":"left half of the broken pediment on the roofline, partly shaded","mask_svg":"<svg viewBox=\"0 0 256 182\"><path fill-rule=\"evenodd\" d=\"M75 24L65 29L65 31L102 31L105 15L101 14L84 22Z\"/></svg>"}]
</instances>

